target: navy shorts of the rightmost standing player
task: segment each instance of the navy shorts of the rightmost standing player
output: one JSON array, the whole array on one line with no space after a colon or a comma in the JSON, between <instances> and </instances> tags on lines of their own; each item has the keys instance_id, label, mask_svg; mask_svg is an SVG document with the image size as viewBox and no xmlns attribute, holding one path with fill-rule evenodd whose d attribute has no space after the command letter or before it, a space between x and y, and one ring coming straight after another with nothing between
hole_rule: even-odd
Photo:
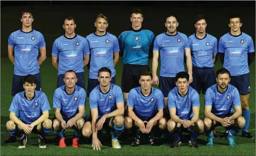
<instances>
[{"instance_id":1,"label":"navy shorts of the rightmost standing player","mask_svg":"<svg viewBox=\"0 0 256 156\"><path fill-rule=\"evenodd\" d=\"M231 76L230 84L238 88L239 94L246 95L250 93L250 75L249 73Z\"/></svg>"}]
</instances>

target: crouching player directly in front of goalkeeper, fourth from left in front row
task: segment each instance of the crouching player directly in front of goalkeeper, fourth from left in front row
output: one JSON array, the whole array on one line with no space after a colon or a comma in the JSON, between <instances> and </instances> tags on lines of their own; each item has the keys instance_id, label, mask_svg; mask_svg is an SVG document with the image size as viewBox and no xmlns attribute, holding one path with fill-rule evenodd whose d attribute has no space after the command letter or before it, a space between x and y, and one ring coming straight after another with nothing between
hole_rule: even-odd
<instances>
[{"instance_id":1,"label":"crouching player directly in front of goalkeeper, fourth from left in front row","mask_svg":"<svg viewBox=\"0 0 256 156\"><path fill-rule=\"evenodd\" d=\"M128 95L128 116L125 117L124 122L125 129L132 128L134 136L132 146L138 146L141 142L137 127L143 134L149 134L149 136L144 136L148 136L151 145L156 145L154 142L155 127L161 130L166 129L166 119L163 117L164 95L159 89L151 87L152 83L152 74L142 73L139 76L141 87L131 89Z\"/></svg>"}]
</instances>

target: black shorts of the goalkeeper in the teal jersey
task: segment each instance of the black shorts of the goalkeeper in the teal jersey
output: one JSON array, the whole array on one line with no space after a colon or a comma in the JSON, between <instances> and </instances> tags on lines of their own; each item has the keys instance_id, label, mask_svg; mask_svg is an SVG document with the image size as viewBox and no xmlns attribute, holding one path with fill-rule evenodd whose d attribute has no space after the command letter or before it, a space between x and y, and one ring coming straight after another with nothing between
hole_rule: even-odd
<instances>
[{"instance_id":1,"label":"black shorts of the goalkeeper in the teal jersey","mask_svg":"<svg viewBox=\"0 0 256 156\"><path fill-rule=\"evenodd\" d=\"M141 86L139 75L150 72L148 65L124 64L122 73L122 91L129 93L131 89Z\"/></svg>"}]
</instances>

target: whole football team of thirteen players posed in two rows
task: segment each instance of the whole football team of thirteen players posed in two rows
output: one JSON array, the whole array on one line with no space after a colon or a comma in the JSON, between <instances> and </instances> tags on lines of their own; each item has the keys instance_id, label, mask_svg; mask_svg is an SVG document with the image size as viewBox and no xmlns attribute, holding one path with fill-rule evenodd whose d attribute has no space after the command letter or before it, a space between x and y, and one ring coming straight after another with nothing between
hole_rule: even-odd
<instances>
[{"instance_id":1,"label":"whole football team of thirteen players posed in two rows","mask_svg":"<svg viewBox=\"0 0 256 156\"><path fill-rule=\"evenodd\" d=\"M249 65L255 50L252 37L240 30L240 16L227 19L230 32L219 41L207 34L203 15L195 18L196 32L189 37L177 31L175 15L166 16L166 32L155 36L142 28L142 11L133 10L131 30L119 37L106 31L108 18L101 13L95 18L96 31L86 37L75 33L76 20L67 16L63 21L65 34L53 42L52 48L52 64L58 70L53 119L49 119L50 104L41 91L44 36L32 29L32 12L22 12L20 20L22 29L12 32L8 39L14 74L10 120L6 123L10 136L4 143L18 138L18 148L25 148L27 135L35 133L39 148L46 148L46 136L53 131L54 140L65 148L65 130L69 128L74 131L74 148L80 147L81 138L87 138L94 150L101 149L103 130L115 149L121 148L119 140L128 137L133 139L131 146L139 146L142 140L154 146L156 136L170 140L171 148L179 148L184 133L188 133L187 143L192 148L198 148L197 137L203 133L208 136L206 146L213 146L217 126L225 127L224 138L230 146L236 146L234 137L239 132L245 138L254 138L248 127ZM121 87L115 84L119 52L123 57ZM148 66L150 53L152 72ZM217 58L223 67L215 73ZM201 93L203 119L199 119ZM85 111L86 97L90 115Z\"/></svg>"}]
</instances>

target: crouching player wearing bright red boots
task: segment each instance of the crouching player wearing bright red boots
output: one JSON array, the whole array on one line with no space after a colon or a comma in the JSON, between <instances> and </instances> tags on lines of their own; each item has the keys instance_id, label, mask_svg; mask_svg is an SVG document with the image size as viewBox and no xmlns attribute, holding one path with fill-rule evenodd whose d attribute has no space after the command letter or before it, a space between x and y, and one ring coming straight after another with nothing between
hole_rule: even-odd
<instances>
[{"instance_id":1,"label":"crouching player wearing bright red boots","mask_svg":"<svg viewBox=\"0 0 256 156\"><path fill-rule=\"evenodd\" d=\"M63 81L65 85L55 89L53 95L53 107L55 108L55 116L53 120L54 134L59 135L59 147L66 148L64 130L68 128L74 129L74 138L72 146L78 148L78 137L85 120L85 89L76 85L77 76L73 70L68 70L64 74Z\"/></svg>"}]
</instances>

